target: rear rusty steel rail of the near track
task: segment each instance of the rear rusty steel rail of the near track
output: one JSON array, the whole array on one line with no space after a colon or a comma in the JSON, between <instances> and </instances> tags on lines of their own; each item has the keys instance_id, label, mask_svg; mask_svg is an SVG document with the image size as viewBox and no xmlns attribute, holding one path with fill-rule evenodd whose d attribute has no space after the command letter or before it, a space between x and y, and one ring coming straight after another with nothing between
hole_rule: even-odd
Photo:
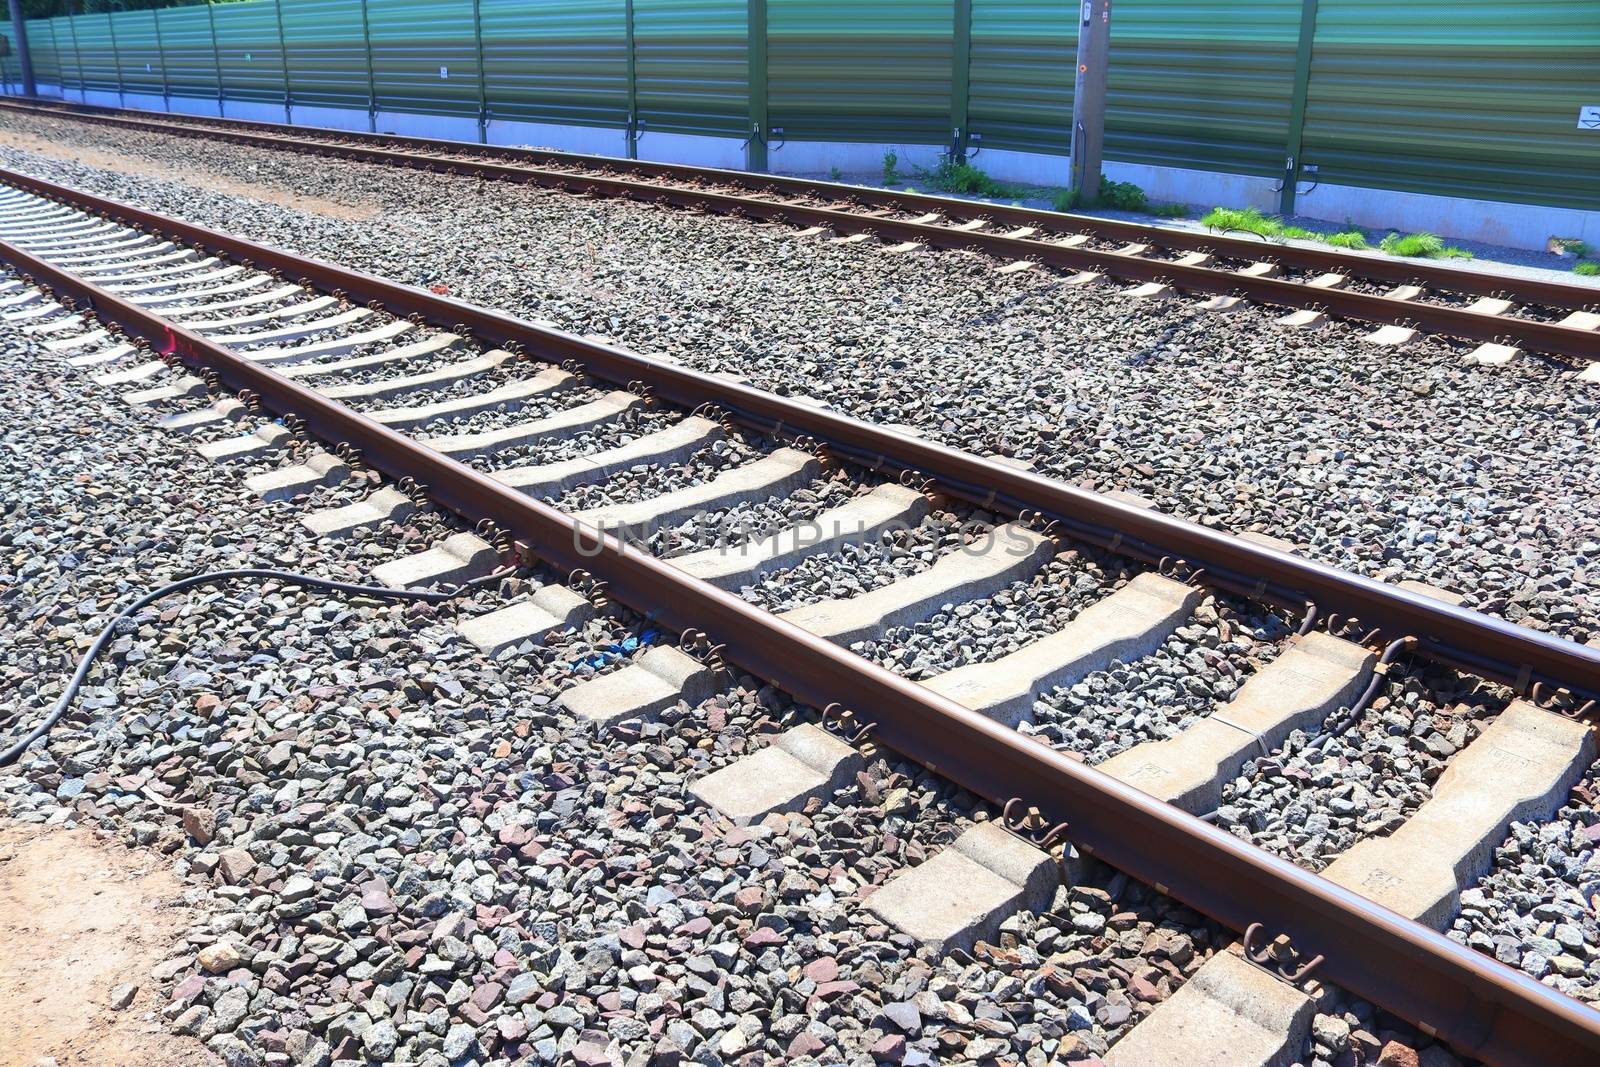
<instances>
[{"instance_id":1,"label":"rear rusty steel rail of the near track","mask_svg":"<svg viewBox=\"0 0 1600 1067\"><path fill-rule=\"evenodd\" d=\"M574 360L595 378L616 384L638 382L658 398L685 410L717 405L757 430L779 437L811 437L854 462L930 477L941 491L981 507L1010 509L1016 514L1040 512L1074 537L1134 558L1152 563L1163 558L1184 560L1205 569L1206 584L1248 598L1296 608L1310 601L1323 616L1360 619L1390 640L1416 637L1418 654L1507 683L1522 693L1542 683L1546 688L1600 697L1600 649L1595 648L514 315L296 256L16 171L0 168L0 181L136 229L160 232L211 253L304 278L307 285L344 293L358 304L376 301L395 314L419 315L440 328L461 328L493 344L520 346L549 363Z\"/></svg>"}]
</instances>

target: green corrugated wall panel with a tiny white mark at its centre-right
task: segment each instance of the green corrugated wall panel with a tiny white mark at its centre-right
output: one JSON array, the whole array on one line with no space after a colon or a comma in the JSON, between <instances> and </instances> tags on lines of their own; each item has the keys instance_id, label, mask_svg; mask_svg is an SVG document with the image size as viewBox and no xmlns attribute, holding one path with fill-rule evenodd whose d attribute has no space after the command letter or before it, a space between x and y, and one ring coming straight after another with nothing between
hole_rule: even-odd
<instances>
[{"instance_id":1,"label":"green corrugated wall panel with a tiny white mark at its centre-right","mask_svg":"<svg viewBox=\"0 0 1600 1067\"><path fill-rule=\"evenodd\" d=\"M378 107L478 114L472 0L368 0Z\"/></svg>"}]
</instances>

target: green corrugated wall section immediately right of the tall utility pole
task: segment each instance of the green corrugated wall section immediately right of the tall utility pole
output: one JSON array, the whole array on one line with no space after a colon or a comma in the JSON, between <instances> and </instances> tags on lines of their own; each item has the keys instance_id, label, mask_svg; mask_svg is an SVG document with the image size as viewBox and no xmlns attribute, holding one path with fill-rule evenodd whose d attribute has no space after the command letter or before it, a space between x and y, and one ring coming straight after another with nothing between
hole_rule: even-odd
<instances>
[{"instance_id":1,"label":"green corrugated wall section immediately right of the tall utility pole","mask_svg":"<svg viewBox=\"0 0 1600 1067\"><path fill-rule=\"evenodd\" d=\"M1106 158L1278 176L1301 0L1118 0Z\"/></svg>"}]
</instances>

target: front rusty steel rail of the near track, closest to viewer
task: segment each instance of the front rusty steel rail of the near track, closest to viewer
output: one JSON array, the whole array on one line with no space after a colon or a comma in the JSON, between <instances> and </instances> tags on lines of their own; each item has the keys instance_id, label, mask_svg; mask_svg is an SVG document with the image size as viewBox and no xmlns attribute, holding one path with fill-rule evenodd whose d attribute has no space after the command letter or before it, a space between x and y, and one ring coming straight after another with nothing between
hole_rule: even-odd
<instances>
[{"instance_id":1,"label":"front rusty steel rail of the near track, closest to viewer","mask_svg":"<svg viewBox=\"0 0 1600 1067\"><path fill-rule=\"evenodd\" d=\"M867 712L874 739L994 803L1010 798L1070 822L1070 840L1232 929L1264 923L1320 974L1506 1067L1579 1067L1600 1059L1600 1013L1472 949L1264 853L1147 793L1058 753L848 649L690 577L670 563L448 459L334 400L280 378L21 248L0 258L56 298L248 390L307 432L347 443L384 475L429 486L440 506L488 518L562 571L584 568L606 595L675 630L699 629L733 662L813 707Z\"/></svg>"}]
</instances>

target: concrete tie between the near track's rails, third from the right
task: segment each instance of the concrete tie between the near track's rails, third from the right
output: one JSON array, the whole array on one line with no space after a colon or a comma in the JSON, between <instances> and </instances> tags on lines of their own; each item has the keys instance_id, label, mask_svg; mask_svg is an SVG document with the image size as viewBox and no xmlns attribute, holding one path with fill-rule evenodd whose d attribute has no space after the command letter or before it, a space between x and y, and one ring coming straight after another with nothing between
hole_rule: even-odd
<instances>
[{"instance_id":1,"label":"concrete tie between the near track's rails, third from the right","mask_svg":"<svg viewBox=\"0 0 1600 1067\"><path fill-rule=\"evenodd\" d=\"M1200 603L1202 590L1146 571L1094 601L1064 629L1000 659L934 675L923 685L1006 726L1027 718L1035 694L1069 686L1112 661L1149 656Z\"/></svg>"}]
</instances>

